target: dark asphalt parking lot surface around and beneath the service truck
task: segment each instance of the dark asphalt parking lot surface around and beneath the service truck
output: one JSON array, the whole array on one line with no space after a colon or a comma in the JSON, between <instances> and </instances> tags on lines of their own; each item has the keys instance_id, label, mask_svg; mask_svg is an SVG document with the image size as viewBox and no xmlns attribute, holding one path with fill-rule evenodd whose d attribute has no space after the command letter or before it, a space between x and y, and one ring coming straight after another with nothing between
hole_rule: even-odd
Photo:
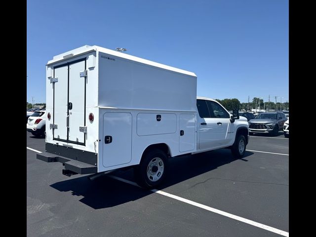
<instances>
[{"instance_id":1,"label":"dark asphalt parking lot surface around and beneath the service truck","mask_svg":"<svg viewBox=\"0 0 316 237\"><path fill-rule=\"evenodd\" d=\"M36 159L44 140L27 132L29 237L288 236L288 138L282 133L251 136L241 159L227 149L171 158L159 189L164 193L128 183L131 170L112 173L121 180L64 176L61 163Z\"/></svg>"}]
</instances>

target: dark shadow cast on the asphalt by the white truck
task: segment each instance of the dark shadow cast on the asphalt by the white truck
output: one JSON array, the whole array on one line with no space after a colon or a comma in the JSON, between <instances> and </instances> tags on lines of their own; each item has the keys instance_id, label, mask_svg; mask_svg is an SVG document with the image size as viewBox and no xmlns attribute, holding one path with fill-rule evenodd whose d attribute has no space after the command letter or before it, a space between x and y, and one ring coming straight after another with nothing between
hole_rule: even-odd
<instances>
[{"instance_id":1,"label":"dark shadow cast on the asphalt by the white truck","mask_svg":"<svg viewBox=\"0 0 316 237\"><path fill-rule=\"evenodd\" d=\"M252 154L252 152L246 151L241 160L248 161L246 158ZM163 190L235 160L237 158L234 158L228 149L171 158L169 160L169 175L164 184L158 189ZM133 169L115 171L111 175L135 182ZM94 181L90 181L87 177L80 176L50 186L60 192L71 192L74 196L82 196L79 201L93 209L117 206L153 194L149 190L115 180L107 175L103 175Z\"/></svg>"}]
</instances>

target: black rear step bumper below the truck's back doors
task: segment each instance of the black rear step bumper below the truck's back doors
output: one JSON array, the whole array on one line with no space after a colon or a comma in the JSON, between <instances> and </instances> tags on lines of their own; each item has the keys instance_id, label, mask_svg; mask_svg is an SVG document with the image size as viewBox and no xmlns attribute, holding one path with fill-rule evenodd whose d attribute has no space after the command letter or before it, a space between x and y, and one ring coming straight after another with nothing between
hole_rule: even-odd
<instances>
[{"instance_id":1,"label":"black rear step bumper below the truck's back doors","mask_svg":"<svg viewBox=\"0 0 316 237\"><path fill-rule=\"evenodd\" d=\"M45 162L61 162L65 165L63 174L71 176L73 174L94 174L98 172L98 167L92 164L87 164L75 159L56 156L51 153L43 152L36 154L36 158Z\"/></svg>"}]
</instances>

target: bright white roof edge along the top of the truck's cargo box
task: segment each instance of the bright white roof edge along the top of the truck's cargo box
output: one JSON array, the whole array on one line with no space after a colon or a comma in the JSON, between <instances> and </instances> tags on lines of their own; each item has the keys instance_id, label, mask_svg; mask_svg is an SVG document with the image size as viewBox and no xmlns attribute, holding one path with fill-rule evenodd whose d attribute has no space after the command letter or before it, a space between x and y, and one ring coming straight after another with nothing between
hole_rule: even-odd
<instances>
[{"instance_id":1,"label":"bright white roof edge along the top of the truck's cargo box","mask_svg":"<svg viewBox=\"0 0 316 237\"><path fill-rule=\"evenodd\" d=\"M70 58L73 58L73 57L76 57L76 56L79 56L79 55L82 55L82 54L85 54L88 52L92 52L92 51L99 51L99 52L107 53L107 54L110 54L110 55L113 55L116 57L132 60L132 61L139 62L139 63L144 63L144 64L151 65L151 66L158 67L158 68L162 68L165 70L169 70L169 71L173 71L173 72L177 72L177 73L181 73L181 74L186 74L186 75L192 76L192 77L197 77L197 75L193 72L189 72L189 71L182 70L179 68L170 67L170 66L167 66L167 65L164 65L161 63L153 62L153 61L150 61L147 59L135 57L135 56L132 56L132 55L129 55L126 53L121 53L121 52L118 52L116 50L111 50L111 49L99 47L96 45L93 45L93 46L84 45L82 47L75 48L75 49L67 51L65 53L58 54L58 55L54 56L52 60L48 61L46 65L48 66L48 65L51 65L51 64L59 62L59 61L66 61L66 60L69 60Z\"/></svg>"}]
</instances>

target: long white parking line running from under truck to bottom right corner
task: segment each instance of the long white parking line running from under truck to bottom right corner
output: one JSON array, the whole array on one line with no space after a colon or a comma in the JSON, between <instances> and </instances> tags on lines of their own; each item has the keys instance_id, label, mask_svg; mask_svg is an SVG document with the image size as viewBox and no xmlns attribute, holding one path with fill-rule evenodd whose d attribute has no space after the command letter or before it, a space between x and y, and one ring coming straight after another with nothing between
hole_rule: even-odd
<instances>
[{"instance_id":1,"label":"long white parking line running from under truck to bottom right corner","mask_svg":"<svg viewBox=\"0 0 316 237\"><path fill-rule=\"evenodd\" d=\"M131 185L139 187L136 183L131 182L129 180L122 179L122 178L119 178L119 177L116 177L116 176L113 176L113 175L108 175L108 176L113 178L113 179L119 180L121 182L124 182L124 183L131 184ZM193 206L197 206L199 208L202 208L202 209L205 209L205 210L217 213L219 215L223 215L223 216L232 218L234 220L241 221L241 222L244 222L246 224L249 224L249 225L252 225L252 226L255 226L255 227L258 227L258 228L261 228L261 229L264 229L264 230L267 230L267 231L270 231L270 232L273 232L273 233L276 233L276 234L281 235L281 236L286 236L286 237L289 236L288 232L285 232L285 231L282 231L282 230L278 230L278 229L276 229L274 227L267 226L267 225L264 225L264 224L261 224L261 223L255 222L255 221L251 221L249 219L246 219L246 218L243 218L243 217L240 217L240 216L236 216L234 214L230 214L228 212L221 211L221 210L215 209L213 207L206 206L206 205L200 204L200 203L195 202L195 201L191 201L191 200L183 198L183 197L178 197L178 196L175 196L173 194L168 194L166 192L163 192L163 191L157 190L157 189L152 189L151 191L154 192L154 193L157 193L157 194L160 194L160 195L163 195L163 196L166 196L166 197L170 197L170 198L173 198L173 199L185 202L187 204L190 204L190 205L193 205Z\"/></svg>"}]
</instances>

